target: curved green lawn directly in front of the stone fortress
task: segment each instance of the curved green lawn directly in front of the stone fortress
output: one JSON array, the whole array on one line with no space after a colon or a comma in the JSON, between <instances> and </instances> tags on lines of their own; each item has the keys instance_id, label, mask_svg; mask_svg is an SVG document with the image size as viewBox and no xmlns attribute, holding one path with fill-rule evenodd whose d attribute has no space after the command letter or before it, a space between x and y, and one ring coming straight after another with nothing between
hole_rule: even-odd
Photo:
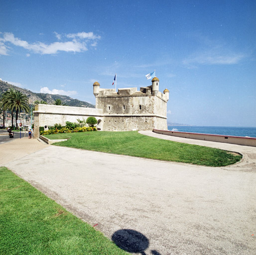
<instances>
[{"instance_id":1,"label":"curved green lawn directly in front of the stone fortress","mask_svg":"<svg viewBox=\"0 0 256 255\"><path fill-rule=\"evenodd\" d=\"M225 150L158 139L137 131L60 133L45 136L49 139L70 138L54 143L57 146L197 165L225 166L234 164L242 158L241 155L233 155Z\"/></svg>"}]
</instances>

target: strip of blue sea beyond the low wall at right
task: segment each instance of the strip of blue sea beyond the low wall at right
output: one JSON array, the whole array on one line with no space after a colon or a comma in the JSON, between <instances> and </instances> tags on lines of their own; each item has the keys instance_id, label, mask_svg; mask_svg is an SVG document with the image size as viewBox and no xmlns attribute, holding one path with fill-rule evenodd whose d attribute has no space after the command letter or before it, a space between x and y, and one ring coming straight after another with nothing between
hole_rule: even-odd
<instances>
[{"instance_id":1,"label":"strip of blue sea beyond the low wall at right","mask_svg":"<svg viewBox=\"0 0 256 255\"><path fill-rule=\"evenodd\" d=\"M168 126L168 130L191 133L256 137L256 128L250 127Z\"/></svg>"}]
</instances>

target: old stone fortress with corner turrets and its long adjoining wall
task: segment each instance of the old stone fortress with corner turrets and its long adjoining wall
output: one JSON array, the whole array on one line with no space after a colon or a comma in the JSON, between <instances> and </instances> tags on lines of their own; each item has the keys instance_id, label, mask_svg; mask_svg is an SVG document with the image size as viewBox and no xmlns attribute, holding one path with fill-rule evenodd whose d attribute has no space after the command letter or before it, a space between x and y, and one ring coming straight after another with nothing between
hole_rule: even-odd
<instances>
[{"instance_id":1,"label":"old stone fortress with corner turrets and its long adjoining wall","mask_svg":"<svg viewBox=\"0 0 256 255\"><path fill-rule=\"evenodd\" d=\"M34 111L34 136L39 137L39 127L65 126L66 121L77 122L93 116L97 127L104 131L167 130L167 102L169 90L159 91L159 79L152 85L137 88L101 89L93 84L96 108L69 107L38 104Z\"/></svg>"}]
</instances>

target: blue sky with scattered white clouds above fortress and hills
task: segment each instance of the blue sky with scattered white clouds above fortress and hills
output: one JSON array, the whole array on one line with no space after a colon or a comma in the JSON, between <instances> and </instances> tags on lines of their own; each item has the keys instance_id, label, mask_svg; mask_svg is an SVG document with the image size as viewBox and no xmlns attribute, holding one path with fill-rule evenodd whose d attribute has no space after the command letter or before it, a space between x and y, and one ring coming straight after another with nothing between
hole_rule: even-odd
<instances>
[{"instance_id":1,"label":"blue sky with scattered white clouds above fortress and hills","mask_svg":"<svg viewBox=\"0 0 256 255\"><path fill-rule=\"evenodd\" d=\"M255 0L0 0L0 79L95 104L93 83L170 91L167 121L256 127Z\"/></svg>"}]
</instances>

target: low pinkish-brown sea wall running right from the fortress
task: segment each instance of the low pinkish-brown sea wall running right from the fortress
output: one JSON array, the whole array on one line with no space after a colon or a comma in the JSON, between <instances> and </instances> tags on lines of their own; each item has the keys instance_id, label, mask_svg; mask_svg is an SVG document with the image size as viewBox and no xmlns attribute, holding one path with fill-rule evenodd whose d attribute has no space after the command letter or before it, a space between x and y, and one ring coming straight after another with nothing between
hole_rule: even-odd
<instances>
[{"instance_id":1,"label":"low pinkish-brown sea wall running right from the fortress","mask_svg":"<svg viewBox=\"0 0 256 255\"><path fill-rule=\"evenodd\" d=\"M221 135L221 134L205 134L205 133L189 133L189 132L169 131L169 130L160 130L160 129L153 129L153 132L172 135L172 136L178 136L183 138L198 139L198 140L205 140L205 141L217 141L217 142L233 143L233 144L256 147L255 137L231 136L231 135Z\"/></svg>"}]
</instances>

